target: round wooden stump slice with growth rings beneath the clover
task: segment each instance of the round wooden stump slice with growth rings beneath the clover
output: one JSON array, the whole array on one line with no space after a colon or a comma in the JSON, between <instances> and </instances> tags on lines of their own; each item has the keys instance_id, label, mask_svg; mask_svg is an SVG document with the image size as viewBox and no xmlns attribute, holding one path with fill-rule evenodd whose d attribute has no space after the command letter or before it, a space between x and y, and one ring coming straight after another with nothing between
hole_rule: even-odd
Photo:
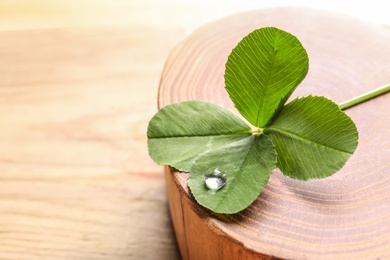
<instances>
[{"instance_id":1,"label":"round wooden stump slice with growth rings beneath the clover","mask_svg":"<svg viewBox=\"0 0 390 260\"><path fill-rule=\"evenodd\" d=\"M384 27L322 11L259 10L205 26L177 46L162 73L159 107L205 100L236 111L224 89L225 62L242 37L265 26L296 35L309 54L308 76L291 99L312 94L341 103L390 82ZM276 169L259 198L238 214L211 214L188 193L187 174L166 167L183 258L390 258L390 95L346 112L359 146L344 168L307 182Z\"/></svg>"}]
</instances>

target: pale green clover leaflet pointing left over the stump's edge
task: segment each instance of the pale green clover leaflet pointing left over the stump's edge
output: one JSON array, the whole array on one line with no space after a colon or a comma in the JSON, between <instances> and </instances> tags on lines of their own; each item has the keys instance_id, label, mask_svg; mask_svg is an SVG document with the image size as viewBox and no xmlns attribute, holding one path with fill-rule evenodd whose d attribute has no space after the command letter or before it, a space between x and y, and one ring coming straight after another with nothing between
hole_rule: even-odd
<instances>
[{"instance_id":1,"label":"pale green clover leaflet pointing left over the stump's edge","mask_svg":"<svg viewBox=\"0 0 390 260\"><path fill-rule=\"evenodd\" d=\"M162 108L150 121L151 158L162 165L190 171L194 161L251 135L251 128L233 112L202 101Z\"/></svg>"}]
</instances>

